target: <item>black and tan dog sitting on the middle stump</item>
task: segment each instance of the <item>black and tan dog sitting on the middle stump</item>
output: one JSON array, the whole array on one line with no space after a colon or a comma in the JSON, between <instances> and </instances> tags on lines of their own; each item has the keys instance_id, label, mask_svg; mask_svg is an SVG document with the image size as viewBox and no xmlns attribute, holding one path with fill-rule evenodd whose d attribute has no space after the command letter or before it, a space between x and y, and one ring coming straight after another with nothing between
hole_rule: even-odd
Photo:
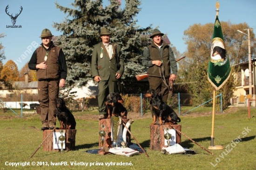
<instances>
[{"instance_id":1,"label":"black and tan dog sitting on the middle stump","mask_svg":"<svg viewBox=\"0 0 256 170\"><path fill-rule=\"evenodd\" d=\"M105 102L108 112L108 117L120 116L121 118L127 118L127 110L122 105L123 99L119 93L109 93L107 96L107 101Z\"/></svg>"}]
</instances>

